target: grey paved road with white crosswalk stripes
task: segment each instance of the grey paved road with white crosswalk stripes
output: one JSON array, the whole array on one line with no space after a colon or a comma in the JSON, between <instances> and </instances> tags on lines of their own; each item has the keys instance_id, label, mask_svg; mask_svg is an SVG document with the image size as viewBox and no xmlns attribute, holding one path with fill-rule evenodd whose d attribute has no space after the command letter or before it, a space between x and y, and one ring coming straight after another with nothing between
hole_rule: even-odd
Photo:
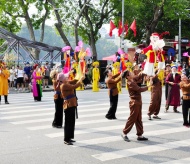
<instances>
[{"instance_id":1,"label":"grey paved road with white crosswalk stripes","mask_svg":"<svg viewBox=\"0 0 190 164\"><path fill-rule=\"evenodd\" d=\"M9 105L0 105L0 164L123 164L190 163L190 128L182 126L182 114L172 108L161 120L149 121L150 92L143 97L143 124L147 142L131 142L120 137L129 115L128 93L119 95L117 120L105 119L109 108L107 89L93 93L77 91L79 119L73 146L63 143L63 128L51 127L54 116L53 92L44 92L42 102L34 102L31 93L9 95ZM179 108L181 111L181 107Z\"/></svg>"}]
</instances>

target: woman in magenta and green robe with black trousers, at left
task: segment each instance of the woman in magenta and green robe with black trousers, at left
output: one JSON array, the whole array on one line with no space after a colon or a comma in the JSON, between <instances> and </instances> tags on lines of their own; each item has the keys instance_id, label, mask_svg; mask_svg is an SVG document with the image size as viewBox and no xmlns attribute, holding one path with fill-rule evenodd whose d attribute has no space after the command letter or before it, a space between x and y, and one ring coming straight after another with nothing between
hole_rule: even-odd
<instances>
[{"instance_id":1,"label":"woman in magenta and green robe with black trousers, at left","mask_svg":"<svg viewBox=\"0 0 190 164\"><path fill-rule=\"evenodd\" d=\"M39 72L38 64L34 65L34 71L32 73L32 92L34 96L34 101L41 101L42 88L41 88L41 73Z\"/></svg>"}]
</instances>

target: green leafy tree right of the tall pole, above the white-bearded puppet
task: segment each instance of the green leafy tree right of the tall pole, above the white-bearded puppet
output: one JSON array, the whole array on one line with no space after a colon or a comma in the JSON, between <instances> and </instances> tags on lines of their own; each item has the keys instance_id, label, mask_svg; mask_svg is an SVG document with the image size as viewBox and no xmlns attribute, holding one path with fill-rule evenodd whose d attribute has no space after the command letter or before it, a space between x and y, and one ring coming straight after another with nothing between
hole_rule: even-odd
<instances>
[{"instance_id":1,"label":"green leafy tree right of the tall pole, above the white-bearded puppet","mask_svg":"<svg viewBox=\"0 0 190 164\"><path fill-rule=\"evenodd\" d=\"M115 3L118 1L115 0ZM178 33L178 19L185 20L182 26L187 27L189 22L189 0L125 0L125 19L129 25L136 19L137 37L133 36L133 32L129 30L127 39L141 43L145 41L149 44L151 33L169 31L171 38ZM121 5L118 6L117 12L121 11ZM115 22L121 18L115 17ZM171 28L172 27L172 28ZM189 35L189 32L185 32Z\"/></svg>"}]
</instances>

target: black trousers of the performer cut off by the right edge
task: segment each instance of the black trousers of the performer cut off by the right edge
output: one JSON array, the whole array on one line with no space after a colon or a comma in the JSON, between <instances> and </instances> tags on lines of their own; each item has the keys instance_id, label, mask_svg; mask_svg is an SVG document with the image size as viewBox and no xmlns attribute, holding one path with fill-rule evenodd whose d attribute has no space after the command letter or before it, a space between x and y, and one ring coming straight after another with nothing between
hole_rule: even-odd
<instances>
[{"instance_id":1,"label":"black trousers of the performer cut off by the right edge","mask_svg":"<svg viewBox=\"0 0 190 164\"><path fill-rule=\"evenodd\" d=\"M182 111L183 111L183 125L190 125L190 100L183 100ZM189 121L188 121L189 115Z\"/></svg>"}]
</instances>

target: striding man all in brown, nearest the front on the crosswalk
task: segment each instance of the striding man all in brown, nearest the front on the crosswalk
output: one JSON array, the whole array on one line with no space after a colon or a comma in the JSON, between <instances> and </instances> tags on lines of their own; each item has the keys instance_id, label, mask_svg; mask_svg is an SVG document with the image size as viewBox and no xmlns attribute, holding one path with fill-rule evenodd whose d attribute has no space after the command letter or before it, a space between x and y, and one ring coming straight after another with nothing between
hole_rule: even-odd
<instances>
[{"instance_id":1,"label":"striding man all in brown, nearest the front on the crosswalk","mask_svg":"<svg viewBox=\"0 0 190 164\"><path fill-rule=\"evenodd\" d=\"M129 142L129 138L127 134L131 131L133 125L136 125L137 129L137 140L145 141L148 138L142 136L143 134L143 123L142 123L142 99L141 92L147 91L148 87L139 87L135 82L137 78L142 78L143 74L140 73L138 76L135 76L130 71L125 71L123 74L123 78L127 79L128 92L130 96L129 108L130 108L130 116L126 122L125 128L123 129L123 134L121 137L124 141Z\"/></svg>"}]
</instances>

